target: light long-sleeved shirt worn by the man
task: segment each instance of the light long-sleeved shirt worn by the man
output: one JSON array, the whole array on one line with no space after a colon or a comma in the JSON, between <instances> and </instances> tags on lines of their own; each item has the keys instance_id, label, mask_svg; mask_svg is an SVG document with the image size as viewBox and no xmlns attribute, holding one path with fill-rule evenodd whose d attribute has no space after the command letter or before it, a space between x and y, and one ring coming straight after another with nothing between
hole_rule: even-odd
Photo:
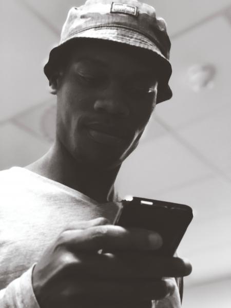
<instances>
[{"instance_id":1,"label":"light long-sleeved shirt worn by the man","mask_svg":"<svg viewBox=\"0 0 231 308\"><path fill-rule=\"evenodd\" d=\"M116 202L99 204L70 187L12 167L0 172L0 307L40 308L33 293L33 266L73 223L105 217L113 223ZM153 307L180 307L174 295Z\"/></svg>"}]
</instances>

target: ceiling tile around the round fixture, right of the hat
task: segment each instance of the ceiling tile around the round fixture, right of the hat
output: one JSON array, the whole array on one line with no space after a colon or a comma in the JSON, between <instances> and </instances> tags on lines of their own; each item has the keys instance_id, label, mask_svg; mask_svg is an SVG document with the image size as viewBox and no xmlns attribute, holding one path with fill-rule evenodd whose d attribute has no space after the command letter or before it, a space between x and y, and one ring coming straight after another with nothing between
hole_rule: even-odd
<instances>
[{"instance_id":1,"label":"ceiling tile around the round fixture, right of the hat","mask_svg":"<svg viewBox=\"0 0 231 308\"><path fill-rule=\"evenodd\" d=\"M216 18L213 22L206 23L175 40L171 53L171 88L174 96L170 101L157 105L157 115L170 127L181 128L194 124L230 104L230 54L230 26L225 18ZM216 67L213 89L194 92L190 88L187 73L195 64L212 64Z\"/></svg>"}]
</instances>

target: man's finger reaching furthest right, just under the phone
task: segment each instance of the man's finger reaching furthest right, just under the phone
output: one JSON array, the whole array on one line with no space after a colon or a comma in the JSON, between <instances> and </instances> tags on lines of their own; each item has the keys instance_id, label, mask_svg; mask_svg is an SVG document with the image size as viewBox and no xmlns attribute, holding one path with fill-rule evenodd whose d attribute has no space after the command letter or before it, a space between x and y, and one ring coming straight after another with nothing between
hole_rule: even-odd
<instances>
[{"instance_id":1,"label":"man's finger reaching furthest right, just under the phone","mask_svg":"<svg viewBox=\"0 0 231 308\"><path fill-rule=\"evenodd\" d=\"M65 275L77 275L82 279L160 279L162 277L182 277L191 273L191 264L180 258L150 257L143 253L121 257L120 254L93 254L92 252L72 252L65 257ZM69 262L67 263L67 260Z\"/></svg>"}]
</instances>

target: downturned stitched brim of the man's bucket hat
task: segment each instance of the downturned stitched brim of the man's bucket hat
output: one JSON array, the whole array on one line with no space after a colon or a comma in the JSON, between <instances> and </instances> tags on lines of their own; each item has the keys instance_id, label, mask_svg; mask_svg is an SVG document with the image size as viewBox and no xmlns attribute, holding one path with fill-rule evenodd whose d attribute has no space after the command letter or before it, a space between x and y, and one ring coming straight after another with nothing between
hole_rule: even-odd
<instances>
[{"instance_id":1,"label":"downturned stitched brim of the man's bucket hat","mask_svg":"<svg viewBox=\"0 0 231 308\"><path fill-rule=\"evenodd\" d=\"M131 29L126 29L123 27L104 26L87 29L78 33L72 33L71 36L66 39L66 41L61 42L59 46L51 50L49 60L44 66L44 73L48 79L50 79L50 76L54 72L55 68L59 66L59 60L63 50L66 49L66 47L68 48L69 43L73 40L81 38L118 42L138 48L143 48L155 53L158 57L161 67L157 104L169 100L172 97L172 91L168 85L168 81L172 72L169 61L164 57L157 45L152 43L148 37L144 36L140 32L132 31Z\"/></svg>"}]
</instances>

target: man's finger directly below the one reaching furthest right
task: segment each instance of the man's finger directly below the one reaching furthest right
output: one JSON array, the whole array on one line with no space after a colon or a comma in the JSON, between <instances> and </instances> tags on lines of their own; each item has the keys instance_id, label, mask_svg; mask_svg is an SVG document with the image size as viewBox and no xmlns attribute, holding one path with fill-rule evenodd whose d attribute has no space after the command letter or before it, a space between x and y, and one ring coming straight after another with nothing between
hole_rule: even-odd
<instances>
[{"instance_id":1,"label":"man's finger directly below the one reaching furthest right","mask_svg":"<svg viewBox=\"0 0 231 308\"><path fill-rule=\"evenodd\" d=\"M69 300L76 302L141 302L161 299L172 294L175 284L170 279L80 279L62 280L63 292ZM89 298L90 294L90 298Z\"/></svg>"}]
</instances>

